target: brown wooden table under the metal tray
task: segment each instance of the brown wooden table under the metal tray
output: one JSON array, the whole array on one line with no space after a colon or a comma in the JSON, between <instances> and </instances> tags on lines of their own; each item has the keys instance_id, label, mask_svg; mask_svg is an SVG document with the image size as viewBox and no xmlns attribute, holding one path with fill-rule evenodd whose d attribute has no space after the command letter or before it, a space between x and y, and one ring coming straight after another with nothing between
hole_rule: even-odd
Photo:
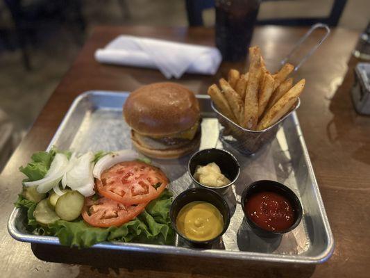
<instances>
[{"instance_id":1,"label":"brown wooden table under the metal tray","mask_svg":"<svg viewBox=\"0 0 370 278\"><path fill-rule=\"evenodd\" d=\"M272 66L277 65L306 30L260 27L255 31L253 44L260 45L267 67L274 70ZM47 147L74 98L86 90L130 91L146 83L165 80L155 70L96 63L94 51L121 33L207 45L214 42L213 31L206 28L96 28L0 176L1 277L104 277L107 274L112 277L369 277L370 117L356 114L351 104L355 65L351 50L358 34L342 28L333 30L297 74L297 78L304 76L307 80L298 117L335 237L335 252L326 263L317 266L221 263L112 252L99 252L97 258L103 255L103 259L91 259L91 256L87 259L85 252L91 250L70 252L33 245L33 251L41 259L66 264L46 263L33 255L31 245L10 238L6 222L23 179L18 167L25 165L33 152ZM196 93L205 93L208 85L225 76L232 66L239 70L246 68L245 63L224 63L215 76L185 75L178 82ZM92 266L87 266L89 264Z\"/></svg>"}]
</instances>

